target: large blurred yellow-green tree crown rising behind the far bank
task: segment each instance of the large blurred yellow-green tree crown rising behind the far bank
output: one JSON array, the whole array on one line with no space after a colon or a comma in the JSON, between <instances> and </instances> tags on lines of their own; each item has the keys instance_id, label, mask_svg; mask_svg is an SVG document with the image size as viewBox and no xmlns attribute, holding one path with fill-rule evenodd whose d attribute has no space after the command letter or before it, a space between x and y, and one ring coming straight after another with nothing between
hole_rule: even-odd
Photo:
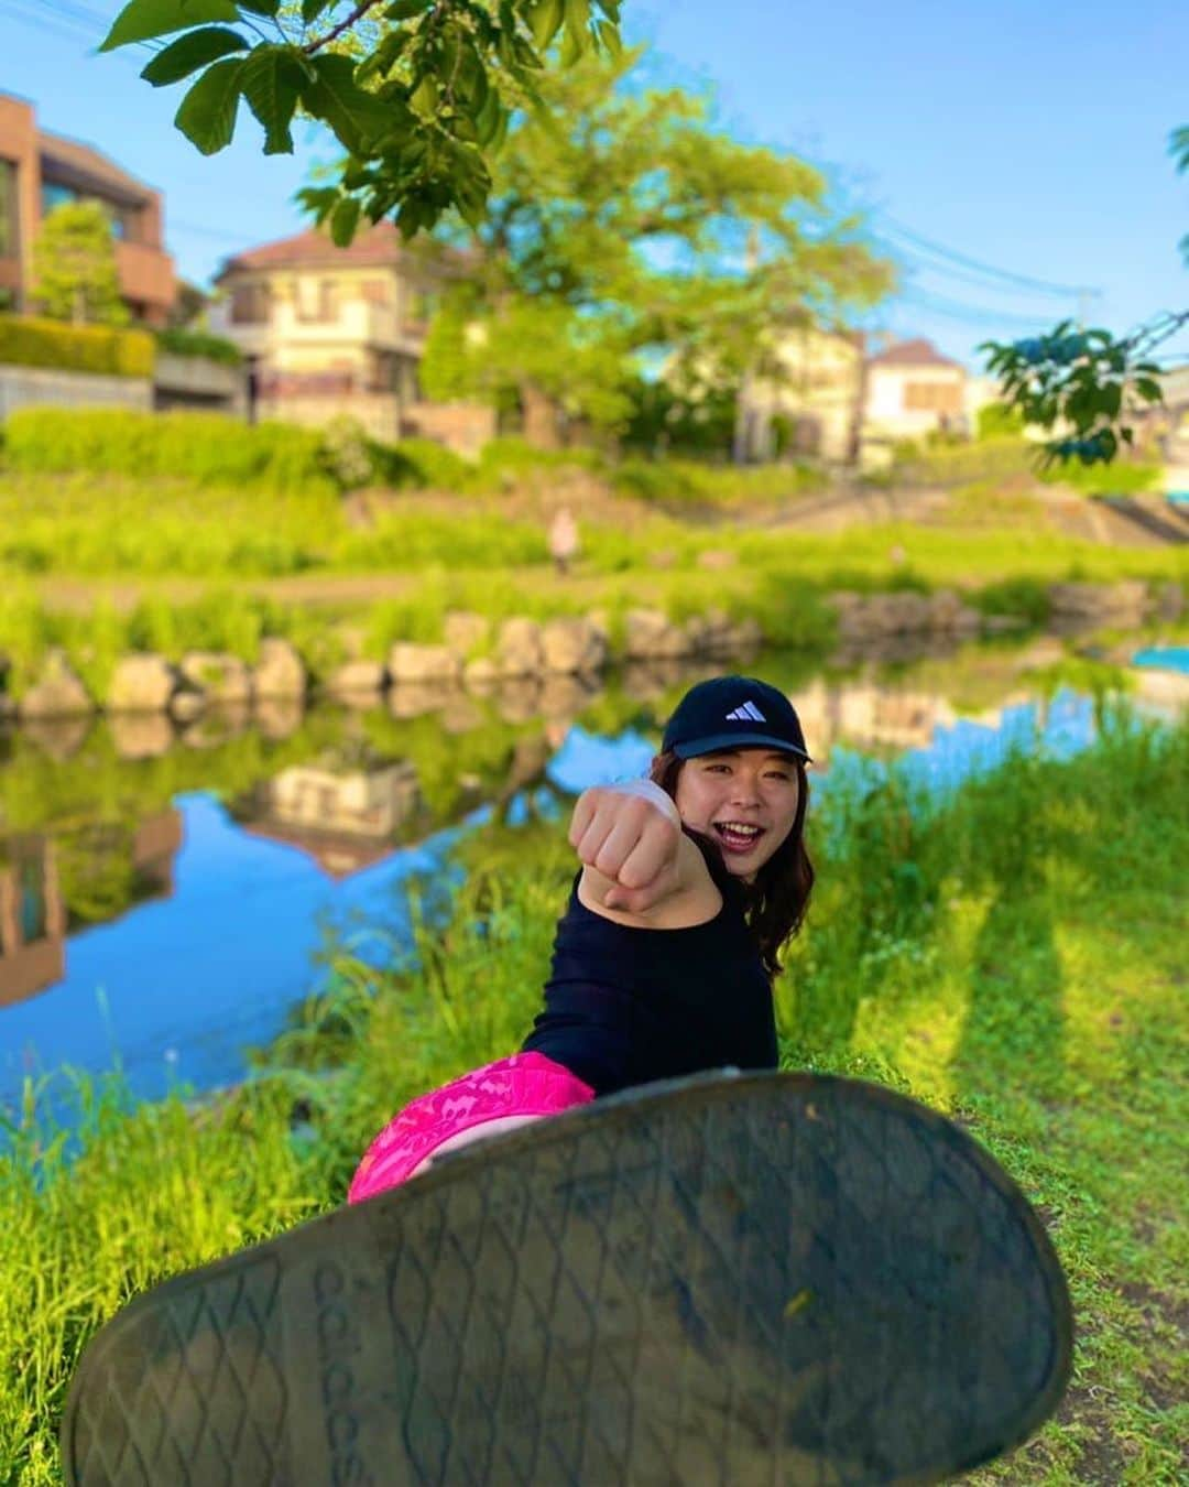
<instances>
[{"instance_id":1,"label":"large blurred yellow-green tree crown rising behind the far bank","mask_svg":"<svg viewBox=\"0 0 1189 1487\"><path fill-rule=\"evenodd\" d=\"M486 217L438 233L467 275L430 335L430 396L519 399L545 442L556 409L620 428L642 366L721 394L774 369L782 330L890 287L819 171L715 132L706 98L639 91L639 55L542 80L547 114L513 119Z\"/></svg>"}]
</instances>

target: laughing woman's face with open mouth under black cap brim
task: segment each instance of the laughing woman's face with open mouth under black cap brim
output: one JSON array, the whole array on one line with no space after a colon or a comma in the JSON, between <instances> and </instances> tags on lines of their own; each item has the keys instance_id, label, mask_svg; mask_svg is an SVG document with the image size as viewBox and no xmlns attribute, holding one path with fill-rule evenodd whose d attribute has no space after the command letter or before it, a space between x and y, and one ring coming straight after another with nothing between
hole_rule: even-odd
<instances>
[{"instance_id":1,"label":"laughing woman's face with open mouth under black cap brim","mask_svg":"<svg viewBox=\"0 0 1189 1487\"><path fill-rule=\"evenodd\" d=\"M676 806L685 825L718 842L727 870L749 883L792 831L800 794L788 754L724 749L681 766Z\"/></svg>"}]
</instances>

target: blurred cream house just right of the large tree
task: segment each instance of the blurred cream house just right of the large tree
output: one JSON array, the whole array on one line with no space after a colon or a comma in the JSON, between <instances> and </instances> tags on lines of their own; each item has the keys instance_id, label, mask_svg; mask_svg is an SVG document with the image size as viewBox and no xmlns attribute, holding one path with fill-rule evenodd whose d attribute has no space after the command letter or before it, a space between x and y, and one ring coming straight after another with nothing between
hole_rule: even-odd
<instances>
[{"instance_id":1,"label":"blurred cream house just right of the large tree","mask_svg":"<svg viewBox=\"0 0 1189 1487\"><path fill-rule=\"evenodd\" d=\"M776 376L751 378L740 390L736 458L850 462L862 412L862 333L804 324L780 336L773 360Z\"/></svg>"}]
</instances>

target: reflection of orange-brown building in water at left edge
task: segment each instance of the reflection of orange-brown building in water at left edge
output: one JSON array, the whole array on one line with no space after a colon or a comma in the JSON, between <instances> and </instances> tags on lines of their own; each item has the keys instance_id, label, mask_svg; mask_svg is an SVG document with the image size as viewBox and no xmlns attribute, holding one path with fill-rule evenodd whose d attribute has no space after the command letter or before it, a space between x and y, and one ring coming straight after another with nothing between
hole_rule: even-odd
<instances>
[{"instance_id":1,"label":"reflection of orange-brown building in water at left edge","mask_svg":"<svg viewBox=\"0 0 1189 1487\"><path fill-rule=\"evenodd\" d=\"M174 855L181 846L181 816L162 810L129 833L101 827L62 837L59 848L46 836L0 840L0 1007L43 992L65 975L65 937L74 923L95 923L150 898L174 891ZM125 855L126 854L126 855ZM98 916L89 879L111 857L131 868L131 897ZM79 913L76 898L86 898Z\"/></svg>"}]
</instances>

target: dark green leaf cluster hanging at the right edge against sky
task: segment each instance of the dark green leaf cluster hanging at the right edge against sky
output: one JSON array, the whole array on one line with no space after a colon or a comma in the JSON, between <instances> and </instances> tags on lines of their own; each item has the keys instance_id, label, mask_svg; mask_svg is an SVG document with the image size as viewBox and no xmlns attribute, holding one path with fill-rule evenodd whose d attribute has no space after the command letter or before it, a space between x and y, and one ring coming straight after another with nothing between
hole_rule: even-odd
<instances>
[{"instance_id":1,"label":"dark green leaf cluster hanging at the right edge against sky","mask_svg":"<svg viewBox=\"0 0 1189 1487\"><path fill-rule=\"evenodd\" d=\"M1189 125L1173 131L1168 147L1177 170L1189 170ZM1189 265L1189 233L1180 250ZM1135 415L1164 400L1161 366L1152 357L1186 324L1189 309L1155 315L1122 338L1061 321L1043 336L987 341L979 349L1026 422L1063 430L1043 445L1045 464L1110 464L1134 443Z\"/></svg>"}]
</instances>

